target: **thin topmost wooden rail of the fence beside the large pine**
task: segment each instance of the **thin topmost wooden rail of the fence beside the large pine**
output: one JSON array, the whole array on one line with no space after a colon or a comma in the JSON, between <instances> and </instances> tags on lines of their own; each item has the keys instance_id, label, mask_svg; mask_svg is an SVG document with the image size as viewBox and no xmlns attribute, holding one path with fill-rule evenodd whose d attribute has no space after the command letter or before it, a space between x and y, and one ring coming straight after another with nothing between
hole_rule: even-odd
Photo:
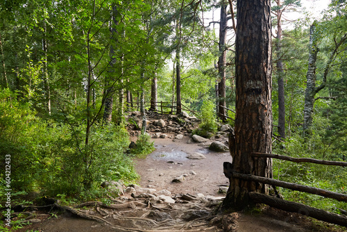
<instances>
[{"instance_id":1,"label":"thin topmost wooden rail of the fence beside the large pine","mask_svg":"<svg viewBox=\"0 0 347 232\"><path fill-rule=\"evenodd\" d=\"M251 156L263 157L263 158L278 158L280 160L288 160L294 163L317 163L319 165L335 165L335 166L347 167L347 162L343 162L343 161L317 160L315 158L293 158L289 156L282 156L278 154L268 154L268 153L261 153L261 152L253 152Z\"/></svg>"}]
</instances>

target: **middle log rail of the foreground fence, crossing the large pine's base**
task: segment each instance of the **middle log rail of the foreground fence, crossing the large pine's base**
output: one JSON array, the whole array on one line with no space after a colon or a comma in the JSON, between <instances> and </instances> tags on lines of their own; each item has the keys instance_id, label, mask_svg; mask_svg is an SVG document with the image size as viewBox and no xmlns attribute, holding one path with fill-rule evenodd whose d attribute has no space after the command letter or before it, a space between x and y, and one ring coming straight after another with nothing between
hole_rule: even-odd
<instances>
[{"instance_id":1,"label":"middle log rail of the foreground fence, crossing the large pine's base","mask_svg":"<svg viewBox=\"0 0 347 232\"><path fill-rule=\"evenodd\" d=\"M337 199L338 201L347 202L347 194L342 194L339 192L332 192L332 191L328 191L328 190L323 190L321 188L314 188L314 187L305 186L305 185L298 185L296 183L278 181L275 179L269 179L269 178L265 178L265 177L261 177L261 176L253 176L253 175L241 174L241 173L237 173L237 172L232 172L231 174L232 174L231 178L238 178L238 179L243 179L246 181L255 181L255 182L260 182L260 183L266 183L269 185L276 185L276 186L280 186L283 188L289 188L291 190L296 190L296 191L300 191L300 192L308 192L308 193L320 195L323 197Z\"/></svg>"}]
</instances>

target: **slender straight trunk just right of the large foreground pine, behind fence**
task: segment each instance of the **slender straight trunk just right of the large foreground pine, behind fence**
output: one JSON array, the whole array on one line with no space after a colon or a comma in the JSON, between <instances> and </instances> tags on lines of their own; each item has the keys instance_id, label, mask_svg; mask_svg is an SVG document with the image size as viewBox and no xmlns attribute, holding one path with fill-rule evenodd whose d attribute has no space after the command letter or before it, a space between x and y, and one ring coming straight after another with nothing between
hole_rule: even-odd
<instances>
[{"instance_id":1,"label":"slender straight trunk just right of the large foreground pine, behind fence","mask_svg":"<svg viewBox=\"0 0 347 232\"><path fill-rule=\"evenodd\" d=\"M280 8L281 0L277 0L277 6ZM276 56L277 56L277 83L278 83L278 134L280 138L285 138L285 83L283 81L283 63L281 60L281 50L282 50L282 23L281 23L281 11L278 9L277 13L277 46L276 46Z\"/></svg>"}]
</instances>

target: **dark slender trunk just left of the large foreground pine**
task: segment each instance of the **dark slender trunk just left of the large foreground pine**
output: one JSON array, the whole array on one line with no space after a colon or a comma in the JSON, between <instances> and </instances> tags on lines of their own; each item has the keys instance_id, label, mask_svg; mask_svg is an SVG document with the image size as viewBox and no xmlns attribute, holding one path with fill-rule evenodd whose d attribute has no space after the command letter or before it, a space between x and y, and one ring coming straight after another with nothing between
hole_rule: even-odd
<instances>
[{"instance_id":1,"label":"dark slender trunk just left of the large foreground pine","mask_svg":"<svg viewBox=\"0 0 347 232\"><path fill-rule=\"evenodd\" d=\"M219 24L219 59L218 59L218 99L219 99L219 115L218 117L226 121L226 28L228 27L227 2L221 5L221 21Z\"/></svg>"}]
</instances>

